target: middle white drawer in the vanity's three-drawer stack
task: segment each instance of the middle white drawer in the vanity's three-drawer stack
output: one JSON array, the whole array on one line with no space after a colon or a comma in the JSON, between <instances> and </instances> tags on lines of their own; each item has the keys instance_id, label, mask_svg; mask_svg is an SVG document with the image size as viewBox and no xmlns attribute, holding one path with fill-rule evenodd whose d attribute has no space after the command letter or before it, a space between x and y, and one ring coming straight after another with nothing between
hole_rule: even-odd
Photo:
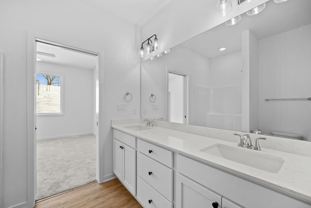
<instances>
[{"instance_id":1,"label":"middle white drawer in the vanity's three-drawer stack","mask_svg":"<svg viewBox=\"0 0 311 208\"><path fill-rule=\"evenodd\" d=\"M173 170L137 153L137 174L169 201L173 201Z\"/></svg>"}]
</instances>

